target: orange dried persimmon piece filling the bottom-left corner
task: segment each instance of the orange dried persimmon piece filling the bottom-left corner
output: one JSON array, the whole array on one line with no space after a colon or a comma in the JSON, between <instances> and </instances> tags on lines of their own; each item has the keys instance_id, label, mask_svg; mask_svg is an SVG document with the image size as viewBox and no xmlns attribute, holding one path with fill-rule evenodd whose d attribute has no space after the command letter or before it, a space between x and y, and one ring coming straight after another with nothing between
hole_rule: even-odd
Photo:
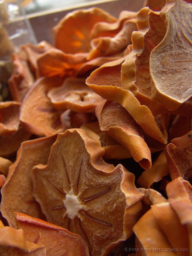
<instances>
[{"instance_id":1,"label":"orange dried persimmon piece filling the bottom-left corner","mask_svg":"<svg viewBox=\"0 0 192 256\"><path fill-rule=\"evenodd\" d=\"M0 254L3 256L45 256L42 245L26 239L22 229L12 227L0 228Z\"/></svg>"}]
</instances>

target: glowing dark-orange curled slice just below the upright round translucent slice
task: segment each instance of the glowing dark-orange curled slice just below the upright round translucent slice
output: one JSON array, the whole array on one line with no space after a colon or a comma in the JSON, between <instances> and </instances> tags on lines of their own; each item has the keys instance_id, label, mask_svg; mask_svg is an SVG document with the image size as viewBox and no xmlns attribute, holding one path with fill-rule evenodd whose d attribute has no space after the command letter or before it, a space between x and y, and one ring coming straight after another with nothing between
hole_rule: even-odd
<instances>
[{"instance_id":1,"label":"glowing dark-orange curled slice just below the upright round translucent slice","mask_svg":"<svg viewBox=\"0 0 192 256\"><path fill-rule=\"evenodd\" d=\"M40 76L74 76L77 69L86 62L86 53L66 54L53 48L37 59L37 77Z\"/></svg>"}]
</instances>

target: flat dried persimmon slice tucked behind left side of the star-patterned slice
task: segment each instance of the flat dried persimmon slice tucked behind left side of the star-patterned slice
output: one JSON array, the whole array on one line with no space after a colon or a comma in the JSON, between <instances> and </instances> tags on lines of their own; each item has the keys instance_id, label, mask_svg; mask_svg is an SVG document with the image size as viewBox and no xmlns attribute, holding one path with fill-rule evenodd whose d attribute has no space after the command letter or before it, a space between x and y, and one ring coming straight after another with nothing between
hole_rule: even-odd
<instances>
[{"instance_id":1,"label":"flat dried persimmon slice tucked behind left side of the star-patterned slice","mask_svg":"<svg viewBox=\"0 0 192 256\"><path fill-rule=\"evenodd\" d=\"M31 171L38 163L47 163L50 148L56 138L57 136L53 135L25 141L21 144L16 161L10 166L6 183L1 188L0 209L10 226L15 227L14 212L45 218L39 203L32 196Z\"/></svg>"}]
</instances>

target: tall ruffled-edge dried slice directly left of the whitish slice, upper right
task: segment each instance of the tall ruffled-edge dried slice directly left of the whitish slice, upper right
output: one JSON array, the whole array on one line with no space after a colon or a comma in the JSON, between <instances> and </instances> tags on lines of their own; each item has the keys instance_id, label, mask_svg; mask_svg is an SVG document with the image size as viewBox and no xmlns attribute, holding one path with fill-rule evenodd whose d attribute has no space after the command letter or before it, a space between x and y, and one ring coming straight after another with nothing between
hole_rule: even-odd
<instances>
[{"instance_id":1,"label":"tall ruffled-edge dried slice directly left of the whitish slice, upper right","mask_svg":"<svg viewBox=\"0 0 192 256\"><path fill-rule=\"evenodd\" d=\"M148 106L153 115L162 113L163 106L151 101L149 58L165 33L165 25L158 12L143 8L137 13L138 31L132 33L132 51L121 66L123 89L131 90L142 105Z\"/></svg>"}]
</instances>

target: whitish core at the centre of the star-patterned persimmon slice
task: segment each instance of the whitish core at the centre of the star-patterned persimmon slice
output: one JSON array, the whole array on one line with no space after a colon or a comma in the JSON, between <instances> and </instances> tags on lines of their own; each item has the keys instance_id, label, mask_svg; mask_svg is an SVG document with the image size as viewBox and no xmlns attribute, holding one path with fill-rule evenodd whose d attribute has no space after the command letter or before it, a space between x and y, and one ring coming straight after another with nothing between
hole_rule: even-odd
<instances>
[{"instance_id":1,"label":"whitish core at the centre of the star-patterned persimmon slice","mask_svg":"<svg viewBox=\"0 0 192 256\"><path fill-rule=\"evenodd\" d=\"M65 215L67 214L70 219L74 219L78 216L78 212L83 208L80 205L79 199L74 195L73 190L71 189L69 193L65 196L63 203L66 208Z\"/></svg>"}]
</instances>

